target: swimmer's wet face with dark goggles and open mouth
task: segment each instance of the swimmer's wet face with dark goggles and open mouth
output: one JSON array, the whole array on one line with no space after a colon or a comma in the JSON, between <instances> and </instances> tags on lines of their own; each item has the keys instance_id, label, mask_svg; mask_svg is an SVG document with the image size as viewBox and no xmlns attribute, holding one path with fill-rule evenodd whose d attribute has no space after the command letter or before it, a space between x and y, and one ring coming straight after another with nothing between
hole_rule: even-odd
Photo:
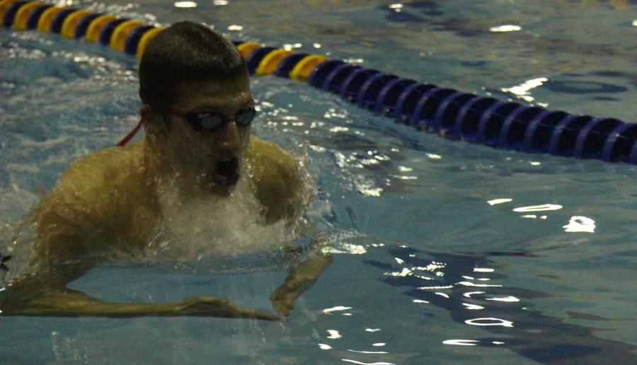
<instances>
[{"instance_id":1,"label":"swimmer's wet face with dark goggles and open mouth","mask_svg":"<svg viewBox=\"0 0 637 365\"><path fill-rule=\"evenodd\" d=\"M168 124L164 162L188 190L229 192L242 175L254 109L248 76L226 82L183 83L161 112ZM246 117L246 115L248 117Z\"/></svg>"}]
</instances>

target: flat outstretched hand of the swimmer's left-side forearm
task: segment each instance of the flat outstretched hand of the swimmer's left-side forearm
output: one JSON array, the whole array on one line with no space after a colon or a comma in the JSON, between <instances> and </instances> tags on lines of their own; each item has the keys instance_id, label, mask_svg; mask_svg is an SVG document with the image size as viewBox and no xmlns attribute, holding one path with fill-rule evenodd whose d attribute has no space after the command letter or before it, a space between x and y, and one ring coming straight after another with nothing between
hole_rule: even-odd
<instances>
[{"instance_id":1,"label":"flat outstretched hand of the swimmer's left-side forearm","mask_svg":"<svg viewBox=\"0 0 637 365\"><path fill-rule=\"evenodd\" d=\"M176 303L178 315L202 315L225 318L256 318L261 320L281 320L277 315L253 308L235 306L228 299L212 296L195 296Z\"/></svg>"}]
</instances>

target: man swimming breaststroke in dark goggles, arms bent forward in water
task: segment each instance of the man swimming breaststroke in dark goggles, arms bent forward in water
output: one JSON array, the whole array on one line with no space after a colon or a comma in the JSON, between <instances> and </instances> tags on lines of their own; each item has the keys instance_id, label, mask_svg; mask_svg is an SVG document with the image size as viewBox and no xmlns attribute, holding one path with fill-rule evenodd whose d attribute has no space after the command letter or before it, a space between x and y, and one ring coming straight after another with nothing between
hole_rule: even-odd
<instances>
[{"instance_id":1,"label":"man swimming breaststroke in dark goggles, arms bent forward in water","mask_svg":"<svg viewBox=\"0 0 637 365\"><path fill-rule=\"evenodd\" d=\"M246 64L222 35L190 22L163 30L140 60L139 96L142 141L74 161L35 207L33 274L14 279L0 294L1 314L280 319L224 298L110 303L67 288L114 253L143 255L165 223L160 194L166 187L187 204L224 199L240 180L249 180L263 224L292 224L306 209L297 161L251 136L256 112ZM275 310L287 315L329 262L314 255L294 267L270 296Z\"/></svg>"}]
</instances>

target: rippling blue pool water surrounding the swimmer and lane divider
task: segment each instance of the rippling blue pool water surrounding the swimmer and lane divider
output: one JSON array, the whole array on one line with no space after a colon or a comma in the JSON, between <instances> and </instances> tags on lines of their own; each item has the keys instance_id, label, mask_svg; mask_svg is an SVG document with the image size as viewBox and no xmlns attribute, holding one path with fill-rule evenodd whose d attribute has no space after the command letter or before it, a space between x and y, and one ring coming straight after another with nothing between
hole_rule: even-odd
<instances>
[{"instance_id":1,"label":"rippling blue pool water surrounding the swimmer and lane divider","mask_svg":"<svg viewBox=\"0 0 637 365\"><path fill-rule=\"evenodd\" d=\"M328 54L440 86L635 122L636 1L74 2ZM505 25L514 25L506 27ZM504 31L508 30L508 31ZM303 83L253 79L254 134L306 156L333 263L286 323L0 317L2 363L636 362L637 169L417 133ZM0 31L0 248L70 161L137 122L135 60ZM101 265L109 301L270 311L289 263Z\"/></svg>"}]
</instances>

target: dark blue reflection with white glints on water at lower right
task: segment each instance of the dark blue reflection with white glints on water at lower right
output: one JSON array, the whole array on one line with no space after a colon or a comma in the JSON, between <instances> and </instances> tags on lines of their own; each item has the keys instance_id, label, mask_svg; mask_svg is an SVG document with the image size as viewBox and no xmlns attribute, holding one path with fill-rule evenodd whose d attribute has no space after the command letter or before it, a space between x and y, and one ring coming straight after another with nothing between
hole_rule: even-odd
<instances>
[{"instance_id":1,"label":"dark blue reflection with white glints on water at lower right","mask_svg":"<svg viewBox=\"0 0 637 365\"><path fill-rule=\"evenodd\" d=\"M444 308L455 322L496 336L449 339L444 344L503 347L545 364L629 364L637 360L630 353L637 349L633 345L595 337L594 328L563 323L534 311L533 299L549 294L498 284L507 277L495 269L498 263L492 257L524 256L524 252L461 255L401 246L390 247L388 253L391 257L384 262L367 261L383 270L384 282L406 287L405 294L420 306Z\"/></svg>"}]
</instances>

